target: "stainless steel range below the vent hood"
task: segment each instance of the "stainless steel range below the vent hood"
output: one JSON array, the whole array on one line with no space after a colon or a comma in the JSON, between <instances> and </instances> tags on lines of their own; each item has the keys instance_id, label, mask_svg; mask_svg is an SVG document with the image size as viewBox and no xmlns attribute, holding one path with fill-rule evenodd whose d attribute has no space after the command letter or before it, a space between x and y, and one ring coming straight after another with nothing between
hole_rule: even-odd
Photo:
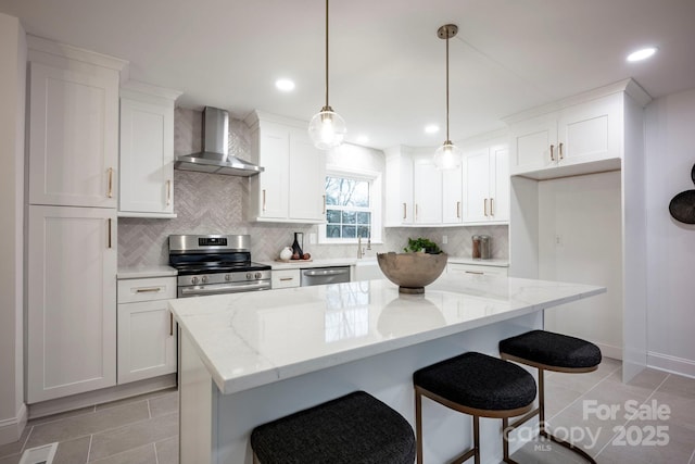
<instances>
[{"instance_id":1,"label":"stainless steel range below the vent hood","mask_svg":"<svg viewBox=\"0 0 695 464\"><path fill-rule=\"evenodd\" d=\"M172 235L178 298L269 290L270 266L251 261L248 235Z\"/></svg>"}]
</instances>

